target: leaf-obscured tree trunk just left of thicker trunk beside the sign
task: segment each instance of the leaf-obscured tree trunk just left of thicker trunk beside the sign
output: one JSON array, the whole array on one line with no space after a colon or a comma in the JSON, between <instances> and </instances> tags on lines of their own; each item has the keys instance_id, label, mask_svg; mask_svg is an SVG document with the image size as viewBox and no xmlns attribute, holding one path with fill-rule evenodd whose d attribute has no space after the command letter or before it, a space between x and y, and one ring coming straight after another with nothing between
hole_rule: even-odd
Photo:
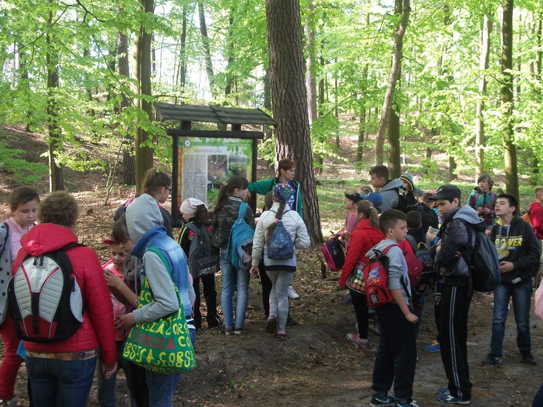
<instances>
[{"instance_id":1,"label":"leaf-obscured tree trunk just left of thicker trunk beside the sign","mask_svg":"<svg viewBox=\"0 0 543 407\"><path fill-rule=\"evenodd\" d=\"M129 78L130 68L128 66L128 38L126 34L117 32L117 59L119 65L119 74ZM123 93L121 101L121 111L130 106L128 97ZM124 146L122 152L122 163L124 167L123 182L125 185L135 185L135 158L134 158L134 138L126 134L124 136Z\"/></svg>"}]
</instances>

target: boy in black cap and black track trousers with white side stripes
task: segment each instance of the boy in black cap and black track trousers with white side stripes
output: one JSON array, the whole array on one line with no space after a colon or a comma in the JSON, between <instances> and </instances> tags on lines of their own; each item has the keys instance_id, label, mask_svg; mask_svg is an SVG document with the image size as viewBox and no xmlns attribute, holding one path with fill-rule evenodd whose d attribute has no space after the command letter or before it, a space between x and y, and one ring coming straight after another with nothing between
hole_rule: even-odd
<instances>
[{"instance_id":1,"label":"boy in black cap and black track trousers with white side stripes","mask_svg":"<svg viewBox=\"0 0 543 407\"><path fill-rule=\"evenodd\" d=\"M441 361L448 379L446 388L437 389L437 399L448 404L470 404L471 382L468 365L468 311L473 288L470 284L470 257L475 247L475 231L485 231L475 209L460 207L460 190L442 185L430 196L437 204L443 225L440 243L430 248L439 272L444 276L439 318Z\"/></svg>"}]
</instances>

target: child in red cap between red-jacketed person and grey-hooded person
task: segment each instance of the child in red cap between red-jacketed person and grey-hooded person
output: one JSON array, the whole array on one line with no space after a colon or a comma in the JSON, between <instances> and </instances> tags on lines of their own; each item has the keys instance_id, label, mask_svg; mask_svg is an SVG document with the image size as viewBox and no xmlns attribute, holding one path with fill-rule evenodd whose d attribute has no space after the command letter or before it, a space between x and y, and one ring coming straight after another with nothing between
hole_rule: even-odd
<instances>
[{"instance_id":1,"label":"child in red cap between red-jacketed person and grey-hooded person","mask_svg":"<svg viewBox=\"0 0 543 407\"><path fill-rule=\"evenodd\" d=\"M113 295L113 291L117 289L117 292L121 292L121 285L124 284L124 249L121 249L120 243L115 239L104 239L104 245L109 246L109 251L111 255L111 260L106 264L102 265L104 269L104 278L106 278L106 283L108 284L111 294L111 303L113 304L113 319L114 321L124 315L125 305L127 301L135 303L137 296L130 292L128 298L120 296L120 299L117 299ZM128 288L128 287L126 287ZM128 289L129 290L129 289ZM122 357L122 350L124 345L124 331L115 330L115 343L117 344L117 370L111 375L109 379L105 378L104 372L102 372L102 362L98 362L98 390L97 397L100 406L116 406L117 405L117 396L115 392L115 383L117 382L117 372L119 369L124 370L126 375L126 384L128 385L128 391L131 395L131 400L133 405L137 405L137 401L133 395L132 382L130 377L130 368L127 359Z\"/></svg>"}]
</instances>

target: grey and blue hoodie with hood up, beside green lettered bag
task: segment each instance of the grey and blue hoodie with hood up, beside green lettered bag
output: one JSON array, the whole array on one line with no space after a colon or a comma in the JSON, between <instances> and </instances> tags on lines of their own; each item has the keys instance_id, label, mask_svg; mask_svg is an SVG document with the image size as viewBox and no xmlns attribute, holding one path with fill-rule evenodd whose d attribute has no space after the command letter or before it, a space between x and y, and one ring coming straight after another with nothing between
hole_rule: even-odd
<instances>
[{"instance_id":1,"label":"grey and blue hoodie with hood up, beside green lettered bag","mask_svg":"<svg viewBox=\"0 0 543 407\"><path fill-rule=\"evenodd\" d=\"M133 311L137 323L155 321L179 309L179 301L172 281L181 297L185 315L192 314L194 290L189 283L189 267L183 249L166 235L162 226L162 214L155 199L143 193L126 208L128 234L135 242L131 254L143 261L142 275L146 276L155 301ZM168 269L160 257L149 248L160 249L168 263ZM192 294L192 296L191 296Z\"/></svg>"}]
</instances>

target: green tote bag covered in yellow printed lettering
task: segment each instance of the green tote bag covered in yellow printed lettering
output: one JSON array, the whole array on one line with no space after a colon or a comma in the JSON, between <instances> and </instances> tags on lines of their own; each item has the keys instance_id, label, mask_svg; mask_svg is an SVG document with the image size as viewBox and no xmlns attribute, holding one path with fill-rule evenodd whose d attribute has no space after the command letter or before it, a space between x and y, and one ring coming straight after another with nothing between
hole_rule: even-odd
<instances>
[{"instance_id":1,"label":"green tote bag covered in yellow printed lettering","mask_svg":"<svg viewBox=\"0 0 543 407\"><path fill-rule=\"evenodd\" d=\"M158 254L171 278L171 270L160 250L151 247L149 250ZM173 283L178 296L179 309L162 318L135 324L126 338L122 356L151 372L170 375L193 370L196 366L196 354L192 346L187 319L178 287ZM144 277L138 308L153 303L153 292L147 277Z\"/></svg>"}]
</instances>

